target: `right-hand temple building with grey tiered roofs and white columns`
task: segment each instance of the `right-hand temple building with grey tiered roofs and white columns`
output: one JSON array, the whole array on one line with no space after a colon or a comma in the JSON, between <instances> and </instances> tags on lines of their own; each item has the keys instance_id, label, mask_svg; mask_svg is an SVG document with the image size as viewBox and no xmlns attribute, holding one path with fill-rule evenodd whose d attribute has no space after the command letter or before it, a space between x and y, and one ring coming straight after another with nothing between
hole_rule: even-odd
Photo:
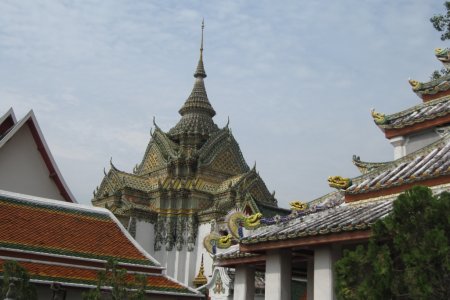
<instances>
[{"instance_id":1,"label":"right-hand temple building with grey tiered roofs and white columns","mask_svg":"<svg viewBox=\"0 0 450 300\"><path fill-rule=\"evenodd\" d=\"M448 67L449 49L435 52ZM216 270L234 270L234 282L217 271L215 282L205 285L211 299L262 298L255 286L258 273L265 277L265 299L300 299L293 294L294 279L306 282L302 299L335 299L334 263L344 249L367 242L372 224L391 212L400 193L415 185L435 194L450 190L450 75L409 82L420 104L391 115L372 110L376 126L394 146L394 160L365 162L355 155L361 175L329 177L335 192L292 202L289 215L263 216L260 226L244 234L239 223L230 224L241 234L239 244L214 258ZM224 282L227 289L215 288Z\"/></svg>"}]
</instances>

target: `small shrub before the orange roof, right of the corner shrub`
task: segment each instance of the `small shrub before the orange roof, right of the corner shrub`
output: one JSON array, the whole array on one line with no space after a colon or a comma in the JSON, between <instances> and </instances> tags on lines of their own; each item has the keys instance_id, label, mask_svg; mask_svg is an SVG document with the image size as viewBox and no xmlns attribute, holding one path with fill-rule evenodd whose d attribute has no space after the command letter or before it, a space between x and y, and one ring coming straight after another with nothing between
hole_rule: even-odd
<instances>
[{"instance_id":1,"label":"small shrub before the orange roof, right of the corner shrub","mask_svg":"<svg viewBox=\"0 0 450 300\"><path fill-rule=\"evenodd\" d=\"M104 271L97 274L97 286L83 294L83 300L143 300L147 277L130 275L118 267L115 260L108 260Z\"/></svg>"}]
</instances>

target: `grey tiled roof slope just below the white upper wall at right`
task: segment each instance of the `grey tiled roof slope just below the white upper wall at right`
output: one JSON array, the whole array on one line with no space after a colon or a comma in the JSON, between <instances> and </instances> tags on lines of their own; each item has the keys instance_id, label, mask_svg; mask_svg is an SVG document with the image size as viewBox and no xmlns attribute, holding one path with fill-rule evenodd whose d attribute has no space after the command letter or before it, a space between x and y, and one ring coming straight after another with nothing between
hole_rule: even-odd
<instances>
[{"instance_id":1,"label":"grey tiled roof slope just below the white upper wall at right","mask_svg":"<svg viewBox=\"0 0 450 300\"><path fill-rule=\"evenodd\" d=\"M450 135L435 143L397 159L372 172L352 179L345 191L361 194L450 175Z\"/></svg>"}]
</instances>

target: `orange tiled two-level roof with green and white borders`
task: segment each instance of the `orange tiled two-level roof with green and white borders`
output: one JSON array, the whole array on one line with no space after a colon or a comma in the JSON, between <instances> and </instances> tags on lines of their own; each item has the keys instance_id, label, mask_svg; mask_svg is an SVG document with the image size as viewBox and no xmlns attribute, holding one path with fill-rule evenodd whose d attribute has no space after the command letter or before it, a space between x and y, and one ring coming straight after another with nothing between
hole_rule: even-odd
<instances>
[{"instance_id":1,"label":"orange tiled two-level roof with green and white borders","mask_svg":"<svg viewBox=\"0 0 450 300\"><path fill-rule=\"evenodd\" d=\"M0 265L18 261L34 282L95 287L97 272L114 259L129 274L147 276L149 293L201 296L162 275L159 263L106 209L0 191L0 223Z\"/></svg>"}]
</instances>

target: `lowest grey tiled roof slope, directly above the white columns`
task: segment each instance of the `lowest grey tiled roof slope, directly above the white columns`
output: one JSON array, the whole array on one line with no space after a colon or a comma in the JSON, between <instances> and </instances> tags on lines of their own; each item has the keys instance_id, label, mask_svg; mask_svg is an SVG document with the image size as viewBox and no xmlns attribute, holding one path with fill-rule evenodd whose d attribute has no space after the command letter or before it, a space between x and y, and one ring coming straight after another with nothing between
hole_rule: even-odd
<instances>
[{"instance_id":1,"label":"lowest grey tiled roof slope, directly above the white columns","mask_svg":"<svg viewBox=\"0 0 450 300\"><path fill-rule=\"evenodd\" d=\"M241 243L254 244L364 230L391 210L392 200L359 205L344 204L307 216L298 216L288 222L260 227L242 239Z\"/></svg>"}]
</instances>

